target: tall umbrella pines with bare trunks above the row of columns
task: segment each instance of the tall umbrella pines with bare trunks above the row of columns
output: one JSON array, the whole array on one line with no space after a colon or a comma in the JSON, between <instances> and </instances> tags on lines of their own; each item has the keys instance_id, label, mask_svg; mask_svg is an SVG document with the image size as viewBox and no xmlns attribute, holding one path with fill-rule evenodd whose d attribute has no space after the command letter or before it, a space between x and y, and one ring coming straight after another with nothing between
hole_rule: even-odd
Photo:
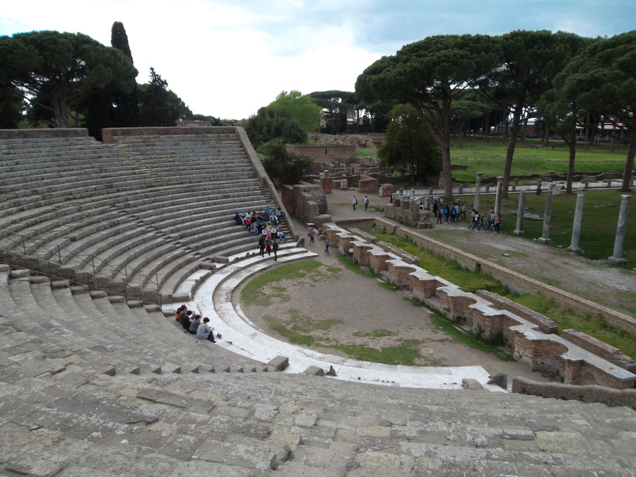
<instances>
[{"instance_id":1,"label":"tall umbrella pines with bare trunks above the row of columns","mask_svg":"<svg viewBox=\"0 0 636 477\"><path fill-rule=\"evenodd\" d=\"M572 33L514 31L500 36L436 35L402 47L368 66L355 83L367 102L397 100L411 105L442 153L444 193L452 197L450 141L453 124L503 110L510 141L503 191L510 184L512 158L524 118L541 118L546 131L570 146L571 190L577 124L589 117L626 131L628 153L623 190L630 187L636 152L636 31L611 38ZM466 99L473 95L473 99Z\"/></svg>"}]
</instances>

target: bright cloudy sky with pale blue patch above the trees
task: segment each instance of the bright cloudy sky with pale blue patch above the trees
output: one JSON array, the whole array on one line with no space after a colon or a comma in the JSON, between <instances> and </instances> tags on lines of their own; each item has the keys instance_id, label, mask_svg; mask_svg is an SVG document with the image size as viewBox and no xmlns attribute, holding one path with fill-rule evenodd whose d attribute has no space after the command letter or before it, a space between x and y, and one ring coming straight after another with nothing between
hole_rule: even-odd
<instances>
[{"instance_id":1,"label":"bright cloudy sky with pale blue patch above the trees","mask_svg":"<svg viewBox=\"0 0 636 477\"><path fill-rule=\"evenodd\" d=\"M353 91L383 55L430 35L632 30L636 0L4 0L0 35L124 24L138 83L155 68L195 114L242 119L282 90Z\"/></svg>"}]
</instances>

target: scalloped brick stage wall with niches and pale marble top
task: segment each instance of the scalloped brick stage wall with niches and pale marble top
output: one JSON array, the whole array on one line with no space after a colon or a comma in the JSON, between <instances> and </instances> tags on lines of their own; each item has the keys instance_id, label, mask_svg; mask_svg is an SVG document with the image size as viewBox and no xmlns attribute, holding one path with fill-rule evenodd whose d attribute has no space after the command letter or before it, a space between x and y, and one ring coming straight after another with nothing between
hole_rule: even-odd
<instances>
[{"instance_id":1,"label":"scalloped brick stage wall with niches and pale marble top","mask_svg":"<svg viewBox=\"0 0 636 477\"><path fill-rule=\"evenodd\" d=\"M483 338L500 338L513 349L514 358L531 370L545 372L567 384L598 384L616 389L634 386L636 375L565 341L543 333L538 326L509 310L497 310L492 302L461 290L443 278L432 276L409 264L399 254L367 242L363 234L344 230L334 223L323 226L322 234L341 254L348 254L361 266L368 266L389 283L411 289L422 300L462 328Z\"/></svg>"}]
</instances>

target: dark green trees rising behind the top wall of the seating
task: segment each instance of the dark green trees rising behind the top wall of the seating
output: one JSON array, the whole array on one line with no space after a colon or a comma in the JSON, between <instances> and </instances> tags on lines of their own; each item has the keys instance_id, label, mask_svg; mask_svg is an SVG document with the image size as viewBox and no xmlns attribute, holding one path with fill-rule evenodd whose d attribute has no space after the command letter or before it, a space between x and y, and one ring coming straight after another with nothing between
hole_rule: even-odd
<instances>
[{"instance_id":1,"label":"dark green trees rising behind the top wall of the seating","mask_svg":"<svg viewBox=\"0 0 636 477\"><path fill-rule=\"evenodd\" d=\"M154 68L148 83L136 83L121 22L112 25L111 45L56 31L0 37L0 128L86 127L101 140L102 128L201 119Z\"/></svg>"}]
</instances>

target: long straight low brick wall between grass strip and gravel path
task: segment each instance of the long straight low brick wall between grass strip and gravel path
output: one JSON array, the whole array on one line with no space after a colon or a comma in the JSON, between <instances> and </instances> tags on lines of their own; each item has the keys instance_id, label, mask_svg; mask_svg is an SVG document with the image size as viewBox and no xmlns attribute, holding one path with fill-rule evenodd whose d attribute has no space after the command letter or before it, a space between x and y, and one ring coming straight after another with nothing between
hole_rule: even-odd
<instances>
[{"instance_id":1,"label":"long straight low brick wall between grass strip and gravel path","mask_svg":"<svg viewBox=\"0 0 636 477\"><path fill-rule=\"evenodd\" d=\"M379 227L386 227L387 230L394 230L395 233L403 237L411 237L413 242L416 242L416 244L420 247L431 250L438 255L442 255L442 257L446 259L457 261L458 264L466 267L467 269L480 271L481 273L492 276L501 283L505 283L508 288L516 291L517 293L537 293L538 295L546 296L551 300L555 300L556 302L589 317L601 316L608 324L624 329L631 336L636 336L636 319L627 314L611 310L611 308L585 300L573 293L568 293L564 290L560 290L559 288L547 285L546 283L534 280L534 278L524 276L516 271L493 264L488 260L468 254L461 249L451 247L437 240L433 240L430 237L426 237L417 230L401 227L392 220L376 218L375 221L376 225Z\"/></svg>"}]
</instances>

